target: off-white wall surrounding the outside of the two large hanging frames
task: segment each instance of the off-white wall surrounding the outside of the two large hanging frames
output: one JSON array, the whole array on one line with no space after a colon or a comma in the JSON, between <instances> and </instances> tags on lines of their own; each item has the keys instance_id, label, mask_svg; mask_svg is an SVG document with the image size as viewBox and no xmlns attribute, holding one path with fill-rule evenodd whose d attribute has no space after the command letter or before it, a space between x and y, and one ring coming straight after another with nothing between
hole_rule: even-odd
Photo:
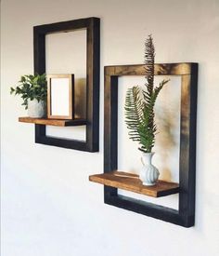
<instances>
[{"instance_id":1,"label":"off-white wall surrounding the outside of the two large hanging frames","mask_svg":"<svg viewBox=\"0 0 219 256\"><path fill-rule=\"evenodd\" d=\"M32 26L101 18L100 152L34 143L19 99L9 95L32 73ZM219 254L218 0L3 0L2 255L216 256ZM186 229L103 204L88 176L103 171L103 67L143 62L152 33L157 62L200 63L196 225Z\"/></svg>"}]
</instances>

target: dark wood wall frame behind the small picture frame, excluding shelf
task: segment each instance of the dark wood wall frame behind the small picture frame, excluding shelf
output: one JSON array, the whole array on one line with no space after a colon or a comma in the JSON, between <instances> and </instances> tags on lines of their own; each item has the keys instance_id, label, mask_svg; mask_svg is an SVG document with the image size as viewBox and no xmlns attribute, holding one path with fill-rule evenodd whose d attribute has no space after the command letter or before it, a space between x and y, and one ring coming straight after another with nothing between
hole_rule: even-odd
<instances>
[{"instance_id":1,"label":"dark wood wall frame behind the small picture frame, excluding shelf","mask_svg":"<svg viewBox=\"0 0 219 256\"><path fill-rule=\"evenodd\" d=\"M45 134L45 125L35 125L35 142L97 152L99 147L99 26L98 18L70 20L33 27L34 73L45 73L45 35L86 29L86 141L60 139Z\"/></svg>"}]
</instances>

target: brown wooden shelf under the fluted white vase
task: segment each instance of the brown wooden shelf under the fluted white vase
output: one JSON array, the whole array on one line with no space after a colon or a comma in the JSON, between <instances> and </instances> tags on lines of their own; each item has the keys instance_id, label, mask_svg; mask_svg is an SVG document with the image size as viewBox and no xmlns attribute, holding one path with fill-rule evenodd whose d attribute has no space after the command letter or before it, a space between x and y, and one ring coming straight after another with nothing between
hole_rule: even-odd
<instances>
[{"instance_id":1,"label":"brown wooden shelf under the fluted white vase","mask_svg":"<svg viewBox=\"0 0 219 256\"><path fill-rule=\"evenodd\" d=\"M142 185L138 175L122 171L91 175L89 176L89 181L153 197L172 195L179 192L178 183L158 181L154 186L145 186Z\"/></svg>"}]
</instances>

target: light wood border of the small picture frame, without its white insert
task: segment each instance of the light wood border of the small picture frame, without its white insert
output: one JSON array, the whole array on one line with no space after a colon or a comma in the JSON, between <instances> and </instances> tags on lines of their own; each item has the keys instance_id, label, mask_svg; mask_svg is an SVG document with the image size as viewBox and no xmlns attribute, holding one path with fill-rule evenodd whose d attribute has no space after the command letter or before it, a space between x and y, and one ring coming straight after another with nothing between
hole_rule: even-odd
<instances>
[{"instance_id":1,"label":"light wood border of the small picture frame, without its white insert","mask_svg":"<svg viewBox=\"0 0 219 256\"><path fill-rule=\"evenodd\" d=\"M72 119L74 117L74 75L73 74L46 74L47 78L47 118ZM70 115L52 115L51 79L69 78L69 113Z\"/></svg>"}]
</instances>

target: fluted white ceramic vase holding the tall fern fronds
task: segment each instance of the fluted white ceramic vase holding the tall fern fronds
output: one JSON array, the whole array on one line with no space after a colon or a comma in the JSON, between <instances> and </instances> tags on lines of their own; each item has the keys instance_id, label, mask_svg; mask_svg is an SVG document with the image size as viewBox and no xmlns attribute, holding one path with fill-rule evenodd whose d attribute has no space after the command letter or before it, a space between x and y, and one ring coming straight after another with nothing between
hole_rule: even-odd
<instances>
[{"instance_id":1,"label":"fluted white ceramic vase holding the tall fern fronds","mask_svg":"<svg viewBox=\"0 0 219 256\"><path fill-rule=\"evenodd\" d=\"M160 175L158 168L151 164L151 159L153 155L153 152L143 153L141 157L143 167L140 170L139 178L142 181L143 185L146 186L155 185Z\"/></svg>"}]
</instances>

